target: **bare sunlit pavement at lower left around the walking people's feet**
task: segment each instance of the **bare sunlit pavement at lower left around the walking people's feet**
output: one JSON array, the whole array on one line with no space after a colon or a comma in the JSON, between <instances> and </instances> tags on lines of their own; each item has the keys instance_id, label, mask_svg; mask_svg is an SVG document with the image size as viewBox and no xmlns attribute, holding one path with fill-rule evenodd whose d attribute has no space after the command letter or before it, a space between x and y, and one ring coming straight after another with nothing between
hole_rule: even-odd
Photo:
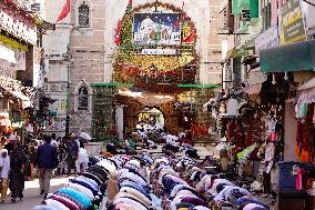
<instances>
[{"instance_id":1,"label":"bare sunlit pavement at lower left around the walking people's feet","mask_svg":"<svg viewBox=\"0 0 315 210\"><path fill-rule=\"evenodd\" d=\"M69 178L55 178L51 181L51 191L61 188L68 182ZM26 182L24 200L18 201L16 203L10 203L10 198L8 197L6 203L0 203L0 210L31 210L34 206L41 203L42 196L39 194L39 181L38 179L33 181Z\"/></svg>"}]
</instances>

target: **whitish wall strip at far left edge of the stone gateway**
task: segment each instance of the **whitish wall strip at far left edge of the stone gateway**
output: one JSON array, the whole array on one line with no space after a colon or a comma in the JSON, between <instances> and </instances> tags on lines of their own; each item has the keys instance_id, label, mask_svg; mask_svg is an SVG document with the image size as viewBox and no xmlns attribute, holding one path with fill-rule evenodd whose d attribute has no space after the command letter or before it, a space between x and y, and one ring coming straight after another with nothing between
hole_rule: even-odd
<instances>
[{"instance_id":1,"label":"whitish wall strip at far left edge of the stone gateway","mask_svg":"<svg viewBox=\"0 0 315 210\"><path fill-rule=\"evenodd\" d=\"M47 127L47 132L55 132L58 136L64 134L65 124L65 103L67 103L67 81L68 63L63 62L63 56L70 43L70 31L72 29L70 16L57 22L65 0L44 1L45 21L55 23L54 31L47 31L43 34L44 50L44 92L55 100L50 106L50 110L57 111L54 123Z\"/></svg>"}]
</instances>

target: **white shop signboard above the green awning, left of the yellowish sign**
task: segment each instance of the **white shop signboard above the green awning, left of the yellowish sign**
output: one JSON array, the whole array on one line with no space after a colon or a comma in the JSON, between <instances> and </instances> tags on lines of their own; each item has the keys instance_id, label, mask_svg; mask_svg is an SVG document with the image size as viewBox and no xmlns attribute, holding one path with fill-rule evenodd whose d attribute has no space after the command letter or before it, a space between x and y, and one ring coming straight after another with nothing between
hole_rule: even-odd
<instances>
[{"instance_id":1,"label":"white shop signboard above the green awning, left of the yellowish sign","mask_svg":"<svg viewBox=\"0 0 315 210\"><path fill-rule=\"evenodd\" d=\"M272 26L255 39L255 51L260 54L261 50L278 46L278 27Z\"/></svg>"}]
</instances>

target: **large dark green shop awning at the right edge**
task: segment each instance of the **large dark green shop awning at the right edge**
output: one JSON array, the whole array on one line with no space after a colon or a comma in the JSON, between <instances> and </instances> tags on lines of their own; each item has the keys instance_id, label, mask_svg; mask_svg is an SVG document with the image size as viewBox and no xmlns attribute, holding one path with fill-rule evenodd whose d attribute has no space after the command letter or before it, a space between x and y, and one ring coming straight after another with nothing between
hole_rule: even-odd
<instances>
[{"instance_id":1,"label":"large dark green shop awning at the right edge","mask_svg":"<svg viewBox=\"0 0 315 210\"><path fill-rule=\"evenodd\" d=\"M263 72L312 71L315 68L315 40L302 41L261 51Z\"/></svg>"}]
</instances>

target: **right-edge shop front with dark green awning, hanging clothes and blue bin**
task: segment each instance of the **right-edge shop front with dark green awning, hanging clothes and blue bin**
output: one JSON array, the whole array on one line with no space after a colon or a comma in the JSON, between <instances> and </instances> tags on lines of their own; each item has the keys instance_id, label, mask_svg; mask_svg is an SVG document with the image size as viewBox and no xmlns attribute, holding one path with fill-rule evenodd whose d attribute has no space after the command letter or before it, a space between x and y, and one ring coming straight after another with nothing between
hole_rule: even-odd
<instances>
[{"instance_id":1,"label":"right-edge shop front with dark green awning, hanging clothes and blue bin","mask_svg":"<svg viewBox=\"0 0 315 210\"><path fill-rule=\"evenodd\" d=\"M286 81L280 86L286 94L284 161L277 163L278 208L294 202L298 203L295 209L314 208L314 193L309 193L314 189L314 40L299 41L268 48L260 54L262 72L272 78L274 87Z\"/></svg>"}]
</instances>

